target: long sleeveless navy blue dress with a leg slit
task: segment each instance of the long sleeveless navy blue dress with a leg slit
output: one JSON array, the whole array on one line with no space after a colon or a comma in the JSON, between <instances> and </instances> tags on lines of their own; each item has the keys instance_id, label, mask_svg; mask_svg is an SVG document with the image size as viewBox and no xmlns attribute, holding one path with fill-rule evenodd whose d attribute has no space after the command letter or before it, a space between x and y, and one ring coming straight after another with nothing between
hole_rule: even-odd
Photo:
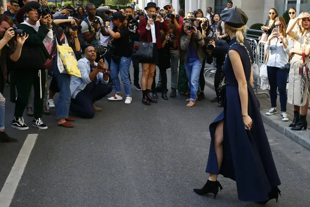
<instances>
[{"instance_id":1,"label":"long sleeveless navy blue dress with a leg slit","mask_svg":"<svg viewBox=\"0 0 310 207\"><path fill-rule=\"evenodd\" d=\"M230 45L237 40L233 38ZM253 53L250 45L245 46ZM239 52L245 78L250 80L251 64L249 56L240 44L228 49ZM259 102L253 88L248 84L248 115L253 121L251 131L245 130L241 116L241 103L238 82L235 78L229 55L224 64L224 73L228 82L224 111L210 124L211 144L206 173L222 174L236 181L238 198L241 201L268 200L268 192L281 184L271 154L268 138L261 120ZM218 171L217 157L214 149L214 133L219 121L224 120L223 163Z\"/></svg>"}]
</instances>

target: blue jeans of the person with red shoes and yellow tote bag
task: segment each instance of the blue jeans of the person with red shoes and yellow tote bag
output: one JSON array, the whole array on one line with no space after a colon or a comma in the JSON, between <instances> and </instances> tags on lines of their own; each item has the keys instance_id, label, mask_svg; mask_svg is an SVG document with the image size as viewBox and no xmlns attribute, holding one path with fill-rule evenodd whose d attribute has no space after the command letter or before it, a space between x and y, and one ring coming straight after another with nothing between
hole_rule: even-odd
<instances>
[{"instance_id":1,"label":"blue jeans of the person with red shoes and yellow tote bag","mask_svg":"<svg viewBox=\"0 0 310 207\"><path fill-rule=\"evenodd\" d=\"M57 55L54 57L53 77L57 82L60 90L59 98L56 106L56 117L65 119L69 114L71 91L70 91L70 75L60 73L57 66Z\"/></svg>"}]
</instances>

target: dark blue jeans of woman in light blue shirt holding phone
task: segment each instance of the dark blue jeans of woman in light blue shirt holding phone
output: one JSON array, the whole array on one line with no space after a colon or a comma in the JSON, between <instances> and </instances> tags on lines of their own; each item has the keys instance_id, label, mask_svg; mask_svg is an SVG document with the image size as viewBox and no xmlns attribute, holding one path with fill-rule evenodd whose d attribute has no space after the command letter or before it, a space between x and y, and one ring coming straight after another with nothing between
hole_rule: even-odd
<instances>
[{"instance_id":1,"label":"dark blue jeans of woman in light blue shirt holding phone","mask_svg":"<svg viewBox=\"0 0 310 207\"><path fill-rule=\"evenodd\" d=\"M280 70L277 67L267 66L268 81L270 85L270 100L271 107L277 107L277 89L280 94L281 112L286 111L287 92L286 84L288 74L285 70Z\"/></svg>"}]
</instances>

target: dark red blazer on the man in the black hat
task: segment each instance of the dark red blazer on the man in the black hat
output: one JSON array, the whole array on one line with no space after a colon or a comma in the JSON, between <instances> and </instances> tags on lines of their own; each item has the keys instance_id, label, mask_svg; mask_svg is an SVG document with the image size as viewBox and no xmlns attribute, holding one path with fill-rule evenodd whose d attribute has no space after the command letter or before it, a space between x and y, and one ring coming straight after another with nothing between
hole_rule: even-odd
<instances>
[{"instance_id":1,"label":"dark red blazer on the man in the black hat","mask_svg":"<svg viewBox=\"0 0 310 207\"><path fill-rule=\"evenodd\" d=\"M141 35L141 42L152 42L151 38L151 30L147 30L147 20L148 17L140 19L139 22L139 30ZM163 23L156 21L155 23L155 34L156 34L156 44L157 48L162 48L162 36L160 30L163 30L165 33L168 32L167 23L163 21Z\"/></svg>"}]
</instances>

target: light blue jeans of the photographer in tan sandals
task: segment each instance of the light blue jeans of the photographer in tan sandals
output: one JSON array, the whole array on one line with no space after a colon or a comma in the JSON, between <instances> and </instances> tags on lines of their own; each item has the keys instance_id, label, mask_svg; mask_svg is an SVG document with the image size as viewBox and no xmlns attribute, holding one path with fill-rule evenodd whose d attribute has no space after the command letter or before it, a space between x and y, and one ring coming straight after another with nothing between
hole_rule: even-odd
<instances>
[{"instance_id":1,"label":"light blue jeans of the photographer in tan sandals","mask_svg":"<svg viewBox=\"0 0 310 207\"><path fill-rule=\"evenodd\" d=\"M200 60L187 60L184 63L186 75L188 77L188 88L191 90L191 101L196 100L196 95L198 91L199 84L199 74L201 70L202 63Z\"/></svg>"}]
</instances>

